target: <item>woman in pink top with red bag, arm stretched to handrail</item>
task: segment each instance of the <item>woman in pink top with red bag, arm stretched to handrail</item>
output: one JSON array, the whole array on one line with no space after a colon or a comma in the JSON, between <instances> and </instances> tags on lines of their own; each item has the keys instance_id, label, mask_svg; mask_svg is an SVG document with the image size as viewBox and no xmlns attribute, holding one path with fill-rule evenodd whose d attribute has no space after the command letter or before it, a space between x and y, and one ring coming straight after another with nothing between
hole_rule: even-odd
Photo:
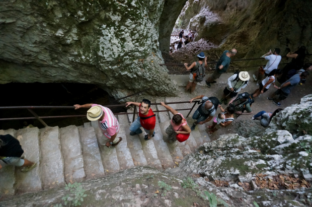
<instances>
[{"instance_id":1,"label":"woman in pink top with red bag, arm stretched to handrail","mask_svg":"<svg viewBox=\"0 0 312 207\"><path fill-rule=\"evenodd\" d=\"M161 102L161 106L164 106L166 109L170 110L170 112L173 114L173 117L170 121L171 124L166 129L166 133L170 135L168 143L171 144L177 141L177 139L179 142L186 141L191 133L191 129L187 125L186 119L183 117L181 113L174 110L170 106L167 106L164 102Z\"/></svg>"}]
</instances>

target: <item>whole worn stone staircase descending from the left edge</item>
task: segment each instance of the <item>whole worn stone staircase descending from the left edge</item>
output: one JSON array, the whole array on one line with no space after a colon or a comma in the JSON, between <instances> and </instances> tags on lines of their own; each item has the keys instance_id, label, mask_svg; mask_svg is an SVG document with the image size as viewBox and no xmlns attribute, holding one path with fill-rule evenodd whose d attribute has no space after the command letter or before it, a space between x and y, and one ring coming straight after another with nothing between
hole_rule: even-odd
<instances>
[{"instance_id":1,"label":"whole worn stone staircase descending from the left edge","mask_svg":"<svg viewBox=\"0 0 312 207\"><path fill-rule=\"evenodd\" d=\"M154 100L161 101L161 100ZM175 101L166 98L167 102ZM191 108L192 104L172 104L173 108ZM162 106L152 105L153 110L164 110ZM131 112L131 109L128 109ZM193 109L191 115L195 109ZM132 109L133 112L133 109ZM189 111L181 111L186 117ZM167 169L177 166L183 157L205 142L210 142L205 127L196 127L184 143L167 144L165 133L172 114L157 113L155 136L149 141L142 134L131 136L129 127L132 114L118 115L120 131L118 137L122 142L115 148L100 146L102 136L97 121L85 123L84 126L70 125L64 128L45 127L42 129L24 128L19 130L0 130L0 134L11 134L18 139L24 149L26 159L39 165L30 172L23 173L20 168L8 166L1 162L0 197L34 192L63 186L68 182L80 182L86 179L104 177L134 166L153 166ZM189 125L193 123L187 118Z\"/></svg>"}]
</instances>

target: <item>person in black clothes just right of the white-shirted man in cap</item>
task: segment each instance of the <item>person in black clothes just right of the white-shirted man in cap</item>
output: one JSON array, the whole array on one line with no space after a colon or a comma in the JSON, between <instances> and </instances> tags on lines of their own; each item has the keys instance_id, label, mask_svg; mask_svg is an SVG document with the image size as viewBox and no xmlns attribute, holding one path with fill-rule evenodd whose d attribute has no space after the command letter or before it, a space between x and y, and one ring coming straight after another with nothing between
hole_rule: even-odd
<instances>
[{"instance_id":1,"label":"person in black clothes just right of the white-shirted man in cap","mask_svg":"<svg viewBox=\"0 0 312 207\"><path fill-rule=\"evenodd\" d=\"M283 75L278 79L279 83L284 83L286 80L289 79L287 77L289 71L291 71L291 70L298 71L303 66L303 62L304 62L304 58L305 58L305 46L299 47L298 50L296 50L293 53L288 52L286 57L292 58L292 59L283 68L283 70L282 70Z\"/></svg>"}]
</instances>

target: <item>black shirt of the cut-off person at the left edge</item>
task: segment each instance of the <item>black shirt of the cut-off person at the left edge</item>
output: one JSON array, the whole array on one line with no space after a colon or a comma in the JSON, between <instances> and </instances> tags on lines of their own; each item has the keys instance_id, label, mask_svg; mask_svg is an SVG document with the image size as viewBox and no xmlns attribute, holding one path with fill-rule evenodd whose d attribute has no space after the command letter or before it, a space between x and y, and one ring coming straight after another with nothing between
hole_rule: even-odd
<instances>
[{"instance_id":1,"label":"black shirt of the cut-off person at the left edge","mask_svg":"<svg viewBox=\"0 0 312 207\"><path fill-rule=\"evenodd\" d=\"M0 147L1 157L21 157L24 153L20 142L10 134L0 135L4 146Z\"/></svg>"}]
</instances>

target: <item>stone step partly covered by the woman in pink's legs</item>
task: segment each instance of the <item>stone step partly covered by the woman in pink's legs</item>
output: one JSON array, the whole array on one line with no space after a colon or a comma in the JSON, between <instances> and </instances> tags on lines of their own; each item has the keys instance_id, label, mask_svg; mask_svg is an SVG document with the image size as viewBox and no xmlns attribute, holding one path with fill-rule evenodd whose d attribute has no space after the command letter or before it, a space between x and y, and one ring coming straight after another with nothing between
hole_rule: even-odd
<instances>
[{"instance_id":1,"label":"stone step partly covered by the woman in pink's legs","mask_svg":"<svg viewBox=\"0 0 312 207\"><path fill-rule=\"evenodd\" d=\"M167 142L169 140L169 135L166 133L166 128L169 126L169 124L170 124L169 120L159 124L160 129L161 129L162 134L163 134L164 142ZM182 154L182 151L179 147L180 145L182 145L182 144L177 142L177 141L172 143L172 144L167 143L168 149L169 149L170 154L171 154L173 159L180 159L180 160L183 159L183 154Z\"/></svg>"}]
</instances>

